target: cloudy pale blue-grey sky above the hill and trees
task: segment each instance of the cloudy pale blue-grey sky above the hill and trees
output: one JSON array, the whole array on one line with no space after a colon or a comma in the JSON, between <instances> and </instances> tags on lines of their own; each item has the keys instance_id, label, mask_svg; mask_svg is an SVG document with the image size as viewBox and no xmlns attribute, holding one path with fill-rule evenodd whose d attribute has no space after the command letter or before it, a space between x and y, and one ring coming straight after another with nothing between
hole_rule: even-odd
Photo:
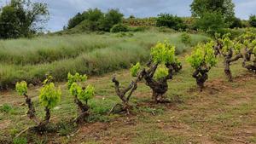
<instances>
[{"instance_id":1,"label":"cloudy pale blue-grey sky above the hill and trees","mask_svg":"<svg viewBox=\"0 0 256 144\"><path fill-rule=\"evenodd\" d=\"M33 0L48 3L50 18L45 29L59 31L67 25L67 21L78 12L98 8L103 12L108 9L119 9L125 17L156 16L160 13L190 16L189 5L193 0ZM0 7L9 0L0 0ZM247 20L250 14L256 14L256 0L233 0L236 4L236 16Z\"/></svg>"}]
</instances>

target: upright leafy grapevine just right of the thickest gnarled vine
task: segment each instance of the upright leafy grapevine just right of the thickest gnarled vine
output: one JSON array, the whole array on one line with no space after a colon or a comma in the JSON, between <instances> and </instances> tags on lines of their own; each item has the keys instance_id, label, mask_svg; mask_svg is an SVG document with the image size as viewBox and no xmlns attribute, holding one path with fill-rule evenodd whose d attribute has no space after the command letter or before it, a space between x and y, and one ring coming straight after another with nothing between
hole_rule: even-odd
<instances>
[{"instance_id":1,"label":"upright leafy grapevine just right of the thickest gnarled vine","mask_svg":"<svg viewBox=\"0 0 256 144\"><path fill-rule=\"evenodd\" d=\"M204 88L204 83L208 79L207 73L211 70L212 66L217 64L217 58L212 49L213 46L214 42L206 44L200 43L195 47L192 54L187 57L190 66L195 69L192 76L196 79L196 84L201 91Z\"/></svg>"}]
</instances>

